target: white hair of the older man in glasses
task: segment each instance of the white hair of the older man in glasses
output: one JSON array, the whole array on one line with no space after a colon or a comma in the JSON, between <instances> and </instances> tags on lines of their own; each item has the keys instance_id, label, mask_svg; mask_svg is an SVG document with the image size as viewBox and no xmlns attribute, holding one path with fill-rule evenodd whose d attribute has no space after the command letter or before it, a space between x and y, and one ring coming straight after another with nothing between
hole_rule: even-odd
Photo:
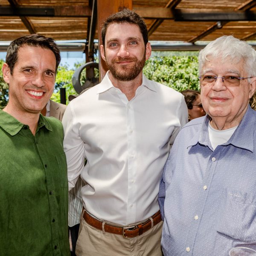
<instances>
[{"instance_id":1,"label":"white hair of the older man in glasses","mask_svg":"<svg viewBox=\"0 0 256 256\"><path fill-rule=\"evenodd\" d=\"M222 58L223 61L229 59L238 63L244 60L244 69L248 76L256 76L256 51L245 41L234 38L232 35L224 35L210 42L199 52L199 74L201 75L207 57Z\"/></svg>"}]
</instances>

